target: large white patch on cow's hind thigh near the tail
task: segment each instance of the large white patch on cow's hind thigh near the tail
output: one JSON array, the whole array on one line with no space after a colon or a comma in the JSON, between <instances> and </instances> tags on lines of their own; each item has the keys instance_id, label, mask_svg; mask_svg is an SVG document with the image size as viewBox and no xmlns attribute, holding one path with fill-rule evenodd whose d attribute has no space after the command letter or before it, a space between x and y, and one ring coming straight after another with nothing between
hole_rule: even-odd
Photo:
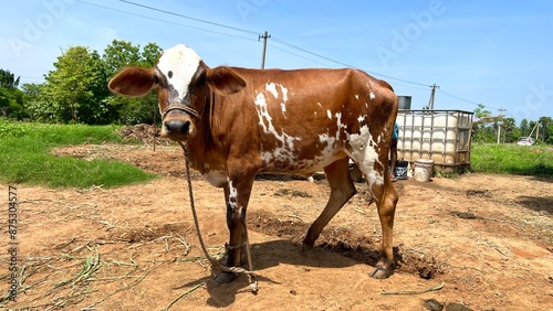
<instances>
[{"instance_id":1,"label":"large white patch on cow's hind thigh near the tail","mask_svg":"<svg viewBox=\"0 0 553 311\"><path fill-rule=\"evenodd\" d=\"M359 133L346 132L347 141L352 147L352 152L345 150L347 156L357 163L359 170L367 178L368 184L382 185L384 183L384 174L375 170L375 163L380 163L378 160L378 152L376 151L375 138L371 135L368 127L365 125L361 127ZM379 141L382 137L378 137Z\"/></svg>"}]
</instances>

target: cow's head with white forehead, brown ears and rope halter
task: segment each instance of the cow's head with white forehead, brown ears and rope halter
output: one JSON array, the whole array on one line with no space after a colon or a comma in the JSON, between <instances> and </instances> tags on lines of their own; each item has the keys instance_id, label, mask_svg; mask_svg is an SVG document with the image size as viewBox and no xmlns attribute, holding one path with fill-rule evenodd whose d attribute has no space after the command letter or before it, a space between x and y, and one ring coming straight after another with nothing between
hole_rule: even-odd
<instances>
[{"instance_id":1,"label":"cow's head with white forehead, brown ears and rope halter","mask_svg":"<svg viewBox=\"0 0 553 311\"><path fill-rule=\"evenodd\" d=\"M190 47L165 51L154 68L126 67L109 81L109 89L125 96L157 90L161 136L186 141L198 131L209 90L230 95L246 82L229 67L209 68Z\"/></svg>"}]
</instances>

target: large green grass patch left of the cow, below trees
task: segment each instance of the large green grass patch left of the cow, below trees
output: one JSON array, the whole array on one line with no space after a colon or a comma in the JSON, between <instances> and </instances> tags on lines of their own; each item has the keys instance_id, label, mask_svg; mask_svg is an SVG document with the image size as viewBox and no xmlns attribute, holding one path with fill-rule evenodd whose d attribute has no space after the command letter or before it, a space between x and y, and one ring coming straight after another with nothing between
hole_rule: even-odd
<instances>
[{"instance_id":1,"label":"large green grass patch left of the cow, below trees","mask_svg":"<svg viewBox=\"0 0 553 311\"><path fill-rule=\"evenodd\" d=\"M123 162L54 157L59 146L122 142L114 126L43 125L0 120L0 181L51 187L105 187L146 182L154 174Z\"/></svg>"}]
</instances>

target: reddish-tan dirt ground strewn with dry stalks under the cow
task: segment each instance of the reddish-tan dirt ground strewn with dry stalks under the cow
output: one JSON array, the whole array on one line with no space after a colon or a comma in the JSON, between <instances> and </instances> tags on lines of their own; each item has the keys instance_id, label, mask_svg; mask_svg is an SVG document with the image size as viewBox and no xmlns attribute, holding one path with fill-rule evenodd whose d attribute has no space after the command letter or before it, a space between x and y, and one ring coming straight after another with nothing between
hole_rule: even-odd
<instances>
[{"instance_id":1,"label":"reddish-tan dirt ground strewn with dry stalks under the cow","mask_svg":"<svg viewBox=\"0 0 553 311\"><path fill-rule=\"evenodd\" d=\"M260 176L248 210L259 293L248 277L216 285L189 208L174 146L76 146L58 156L113 159L160 175L86 190L18 186L17 302L23 310L553 310L553 179L465 174L395 183L394 275L368 277L380 227L367 189L300 253L330 189L324 179ZM3 184L2 202L8 201ZM194 175L209 251L228 239L223 194ZM2 215L2 219L3 219ZM8 248L8 232L0 239ZM8 267L7 251L1 256ZM2 293L9 287L2 269ZM457 307L458 309L453 309ZM434 310L441 310L435 308Z\"/></svg>"}]
</instances>

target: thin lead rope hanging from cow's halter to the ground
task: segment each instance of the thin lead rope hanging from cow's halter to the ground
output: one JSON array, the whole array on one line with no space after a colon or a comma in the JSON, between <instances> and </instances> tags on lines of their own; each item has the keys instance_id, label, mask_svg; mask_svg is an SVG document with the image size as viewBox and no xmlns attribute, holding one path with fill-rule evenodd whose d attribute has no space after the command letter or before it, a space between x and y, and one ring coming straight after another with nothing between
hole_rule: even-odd
<instances>
[{"instance_id":1,"label":"thin lead rope hanging from cow's halter to the ground","mask_svg":"<svg viewBox=\"0 0 553 311\"><path fill-rule=\"evenodd\" d=\"M188 183L188 195L190 196L190 210L192 211L192 218L194 218L194 225L196 226L196 234L198 235L198 240L200 243L201 250L204 251L204 256L206 256L206 259L208 259L209 264L211 265L211 267L210 267L211 274L213 274L213 267L217 267L221 271L225 271L225 272L248 275L248 278L250 280L251 291L253 293L257 293L259 288L258 288L258 281L255 279L255 272L253 272L253 265L252 265L251 253L250 253L250 240L248 238L248 229L246 228L246 225L244 225L246 255L248 257L248 266L249 266L250 270L246 270L246 269L240 268L240 267L223 266L221 262L219 262L218 260L216 260L215 258L209 256L209 253L206 248L206 244L204 243L204 238L201 237L201 234L200 234L200 225L198 223L198 216L196 215L196 206L194 204L192 182L190 179L190 164L188 162L188 148L181 141L179 141L178 143L180 144L180 147L182 148L182 151L185 153L186 181Z\"/></svg>"}]
</instances>

